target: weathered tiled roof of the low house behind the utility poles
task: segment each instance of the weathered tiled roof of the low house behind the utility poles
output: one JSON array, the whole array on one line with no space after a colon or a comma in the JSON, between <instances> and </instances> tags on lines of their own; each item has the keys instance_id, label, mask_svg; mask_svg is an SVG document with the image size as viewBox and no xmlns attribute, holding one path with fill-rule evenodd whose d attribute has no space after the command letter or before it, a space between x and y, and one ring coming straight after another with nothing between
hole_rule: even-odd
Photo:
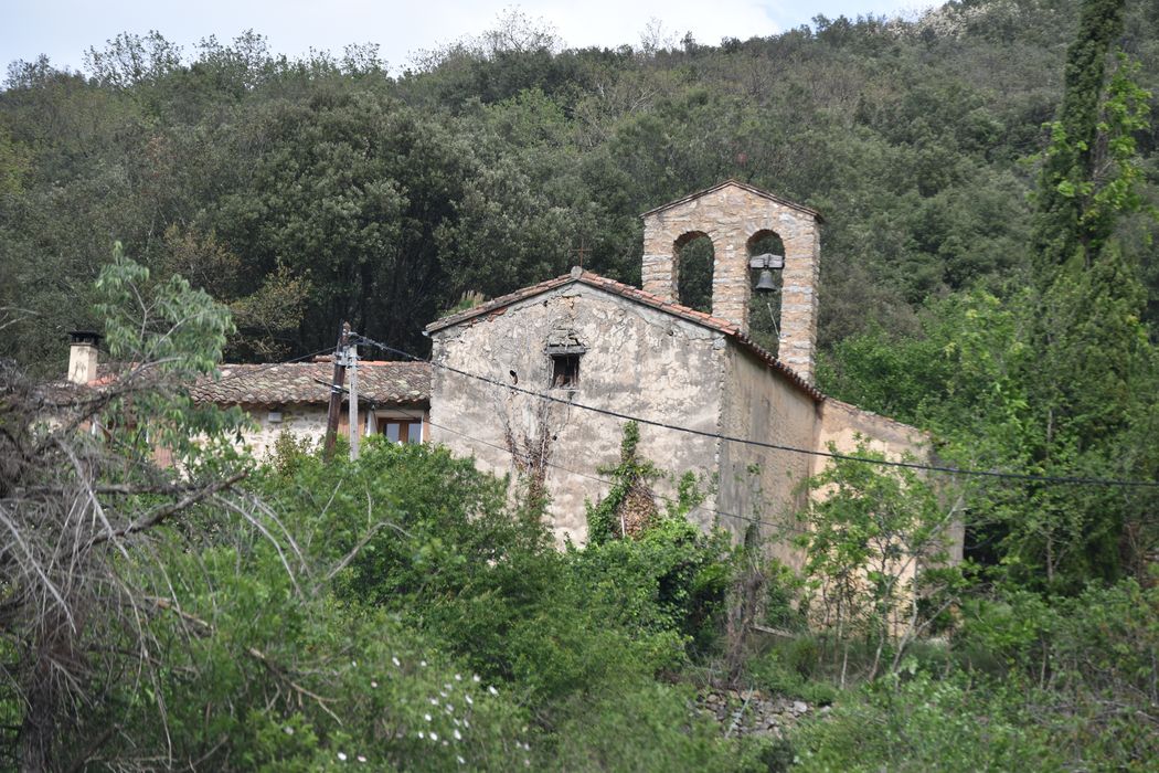
<instances>
[{"instance_id":1,"label":"weathered tiled roof of the low house behind the utility poles","mask_svg":"<svg viewBox=\"0 0 1159 773\"><path fill-rule=\"evenodd\" d=\"M326 403L334 363L221 365L219 378L203 378L190 391L198 402L220 404ZM378 403L424 403L430 400L428 363L358 363L358 398Z\"/></svg>"}]
</instances>

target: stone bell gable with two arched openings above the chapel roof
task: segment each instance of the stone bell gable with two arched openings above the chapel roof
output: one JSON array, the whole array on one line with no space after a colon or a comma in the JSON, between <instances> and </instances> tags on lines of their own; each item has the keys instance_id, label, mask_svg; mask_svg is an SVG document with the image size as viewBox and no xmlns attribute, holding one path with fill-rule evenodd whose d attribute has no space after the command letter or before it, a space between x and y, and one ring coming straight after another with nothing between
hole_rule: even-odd
<instances>
[{"instance_id":1,"label":"stone bell gable with two arched openings above the chapel roof","mask_svg":"<svg viewBox=\"0 0 1159 773\"><path fill-rule=\"evenodd\" d=\"M713 242L713 315L749 329L749 241L773 232L785 243L780 359L812 381L817 342L817 279L821 232L817 216L737 183L644 216L643 289L679 300L676 242L704 233Z\"/></svg>"}]
</instances>

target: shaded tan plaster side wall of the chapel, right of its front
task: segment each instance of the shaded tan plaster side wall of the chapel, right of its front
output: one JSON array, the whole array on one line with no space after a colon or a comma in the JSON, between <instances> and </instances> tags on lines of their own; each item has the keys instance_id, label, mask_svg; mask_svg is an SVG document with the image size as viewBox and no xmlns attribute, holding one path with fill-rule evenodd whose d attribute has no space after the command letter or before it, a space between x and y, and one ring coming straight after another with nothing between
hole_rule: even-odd
<instances>
[{"instance_id":1,"label":"shaded tan plaster side wall of the chapel, right of its front","mask_svg":"<svg viewBox=\"0 0 1159 773\"><path fill-rule=\"evenodd\" d=\"M778 445L812 449L821 416L811 396L767 364L738 347L729 347L724 371L723 433L766 440ZM780 561L799 567L797 552L768 524L793 526L793 513L806 496L801 482L811 474L811 457L763 449L744 443L723 443L720 465L721 512L768 522L760 534ZM739 539L751 522L721 517Z\"/></svg>"}]
</instances>

